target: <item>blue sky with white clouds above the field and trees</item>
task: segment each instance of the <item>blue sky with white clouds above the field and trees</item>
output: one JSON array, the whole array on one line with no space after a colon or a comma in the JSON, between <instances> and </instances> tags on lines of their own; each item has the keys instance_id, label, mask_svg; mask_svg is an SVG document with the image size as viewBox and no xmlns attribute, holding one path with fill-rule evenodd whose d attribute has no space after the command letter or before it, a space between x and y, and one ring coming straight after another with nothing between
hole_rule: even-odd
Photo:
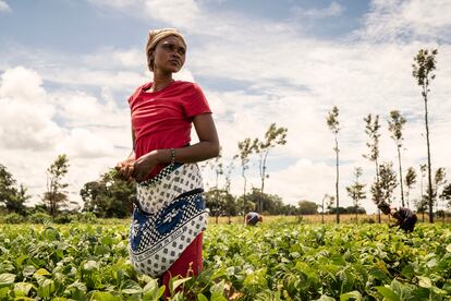
<instances>
[{"instance_id":1,"label":"blue sky with white clouds above the field and trees","mask_svg":"<svg viewBox=\"0 0 451 301\"><path fill-rule=\"evenodd\" d=\"M406 118L403 173L416 170L411 200L420 194L427 149L412 64L419 49L438 49L428 101L431 166L451 174L448 0L0 0L0 164L28 188L32 203L45 192L46 169L59 154L70 161L70 200L80 203L86 182L129 155L126 99L151 81L144 46L149 29L160 27L185 36L186 63L174 77L204 89L224 165L240 141L263 139L271 123L284 127L288 142L269 153L265 192L287 204L320 204L334 194L334 137L326 117L337 106L340 203L352 205L345 188L362 167L367 212L375 212L375 167L362 156L368 153L363 119L369 113L382 125L379 161L393 161L395 170L389 112ZM240 162L234 166L231 191L239 195L243 180ZM257 156L246 176L247 189L260 186ZM206 189L215 179L205 167ZM393 204L400 200L397 190Z\"/></svg>"}]
</instances>

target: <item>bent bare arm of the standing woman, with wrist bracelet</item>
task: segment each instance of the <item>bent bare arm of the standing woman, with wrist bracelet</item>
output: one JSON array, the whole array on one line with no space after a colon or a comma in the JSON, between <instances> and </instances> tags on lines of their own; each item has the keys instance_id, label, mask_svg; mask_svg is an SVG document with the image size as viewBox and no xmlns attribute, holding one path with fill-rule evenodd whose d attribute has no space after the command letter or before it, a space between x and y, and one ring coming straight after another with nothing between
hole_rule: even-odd
<instances>
[{"instance_id":1,"label":"bent bare arm of the standing woman, with wrist bracelet","mask_svg":"<svg viewBox=\"0 0 451 301\"><path fill-rule=\"evenodd\" d=\"M195 116L193 124L199 142L187 147L175 148L174 160L176 162L198 162L219 155L219 139L211 113ZM170 148L153 150L135 161L132 177L141 182L157 165L171 161Z\"/></svg>"}]
</instances>

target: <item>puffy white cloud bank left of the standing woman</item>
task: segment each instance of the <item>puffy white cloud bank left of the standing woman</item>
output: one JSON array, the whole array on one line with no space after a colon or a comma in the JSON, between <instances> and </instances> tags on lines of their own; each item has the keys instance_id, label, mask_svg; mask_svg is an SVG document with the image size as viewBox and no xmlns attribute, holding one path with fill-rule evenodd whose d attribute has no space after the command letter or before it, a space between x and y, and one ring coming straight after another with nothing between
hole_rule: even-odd
<instances>
[{"instance_id":1,"label":"puffy white cloud bank left of the standing woman","mask_svg":"<svg viewBox=\"0 0 451 301\"><path fill-rule=\"evenodd\" d=\"M85 182L127 155L130 112L118 108L108 88L102 99L64 87L50 93L40 74L16 67L1 74L0 107L1 162L28 186L33 203L58 154L69 155L66 181L75 201Z\"/></svg>"}]
</instances>

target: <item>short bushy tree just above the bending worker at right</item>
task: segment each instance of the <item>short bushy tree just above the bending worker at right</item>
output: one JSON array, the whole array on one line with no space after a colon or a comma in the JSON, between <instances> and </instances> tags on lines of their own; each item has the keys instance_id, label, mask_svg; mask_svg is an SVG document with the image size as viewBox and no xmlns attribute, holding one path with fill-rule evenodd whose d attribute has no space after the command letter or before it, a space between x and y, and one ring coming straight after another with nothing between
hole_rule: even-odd
<instances>
[{"instance_id":1,"label":"short bushy tree just above the bending worker at right","mask_svg":"<svg viewBox=\"0 0 451 301\"><path fill-rule=\"evenodd\" d=\"M380 203L391 204L391 196L398 186L397 173L393 171L393 164L386 162L379 166L379 181L371 186L373 201L376 205Z\"/></svg>"}]
</instances>

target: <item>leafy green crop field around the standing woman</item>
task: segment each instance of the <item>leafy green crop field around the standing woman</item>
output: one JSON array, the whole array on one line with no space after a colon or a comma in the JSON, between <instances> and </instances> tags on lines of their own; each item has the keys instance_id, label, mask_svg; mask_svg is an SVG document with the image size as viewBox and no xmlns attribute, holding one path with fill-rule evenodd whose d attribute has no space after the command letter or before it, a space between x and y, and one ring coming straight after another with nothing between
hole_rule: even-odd
<instances>
[{"instance_id":1,"label":"leafy green crop field around the standing woman","mask_svg":"<svg viewBox=\"0 0 451 301\"><path fill-rule=\"evenodd\" d=\"M205 269L171 300L451 300L451 227L209 225ZM0 300L158 300L127 225L0 225Z\"/></svg>"}]
</instances>

